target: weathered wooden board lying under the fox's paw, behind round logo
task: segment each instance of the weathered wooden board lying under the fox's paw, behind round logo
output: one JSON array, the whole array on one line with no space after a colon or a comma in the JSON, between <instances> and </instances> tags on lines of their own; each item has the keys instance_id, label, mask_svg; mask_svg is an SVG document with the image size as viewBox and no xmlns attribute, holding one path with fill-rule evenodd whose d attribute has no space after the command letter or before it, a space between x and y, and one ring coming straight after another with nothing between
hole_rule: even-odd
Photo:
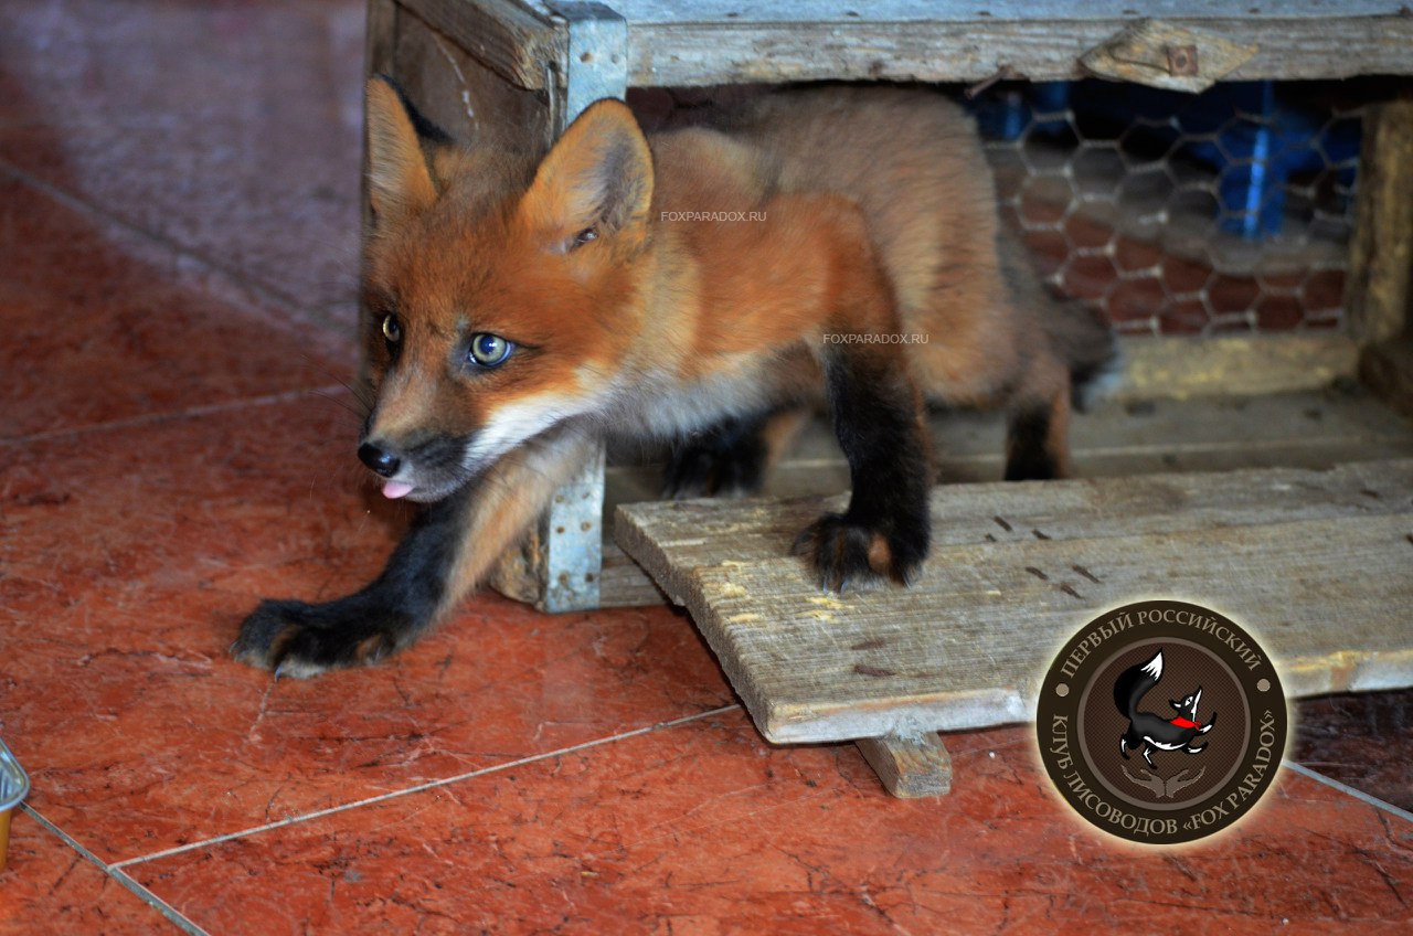
<instances>
[{"instance_id":1,"label":"weathered wooden board lying under the fox's paw, behind round logo","mask_svg":"<svg viewBox=\"0 0 1413 936\"><path fill-rule=\"evenodd\" d=\"M1413 686L1413 460L933 493L911 588L820 592L787 554L842 498L622 506L616 537L684 604L771 741L1026 721L1058 648L1142 598L1207 604L1291 696Z\"/></svg>"}]
</instances>

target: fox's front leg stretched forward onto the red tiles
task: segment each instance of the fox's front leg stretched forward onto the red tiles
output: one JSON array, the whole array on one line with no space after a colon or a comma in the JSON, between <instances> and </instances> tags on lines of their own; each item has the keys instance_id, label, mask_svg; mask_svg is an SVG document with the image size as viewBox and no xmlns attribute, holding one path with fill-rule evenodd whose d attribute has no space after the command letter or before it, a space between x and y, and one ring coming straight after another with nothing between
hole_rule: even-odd
<instances>
[{"instance_id":1,"label":"fox's front leg stretched forward onto the red tiles","mask_svg":"<svg viewBox=\"0 0 1413 936\"><path fill-rule=\"evenodd\" d=\"M521 444L478 481L430 503L363 590L328 601L261 601L240 625L236 659L277 676L317 676L401 650L480 585L593 451L562 427Z\"/></svg>"}]
</instances>

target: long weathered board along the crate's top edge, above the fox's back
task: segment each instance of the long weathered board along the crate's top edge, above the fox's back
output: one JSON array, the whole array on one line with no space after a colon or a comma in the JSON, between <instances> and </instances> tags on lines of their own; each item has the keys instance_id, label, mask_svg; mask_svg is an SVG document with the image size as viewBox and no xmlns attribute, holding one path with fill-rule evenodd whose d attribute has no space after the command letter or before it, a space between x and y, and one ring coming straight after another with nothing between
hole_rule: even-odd
<instances>
[{"instance_id":1,"label":"long weathered board along the crate's top edge, above the fox's back","mask_svg":"<svg viewBox=\"0 0 1413 936\"><path fill-rule=\"evenodd\" d=\"M548 16L550 4L527 3ZM1080 57L1143 18L1256 54L1234 79L1413 72L1413 18L1396 0L617 0L632 86L818 79L1082 78Z\"/></svg>"}]
</instances>

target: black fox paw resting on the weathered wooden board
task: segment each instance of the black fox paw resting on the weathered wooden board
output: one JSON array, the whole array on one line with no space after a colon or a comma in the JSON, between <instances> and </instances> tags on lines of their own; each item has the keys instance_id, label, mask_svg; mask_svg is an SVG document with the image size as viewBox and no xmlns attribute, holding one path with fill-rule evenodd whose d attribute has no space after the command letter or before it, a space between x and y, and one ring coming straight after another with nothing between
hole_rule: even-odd
<instances>
[{"instance_id":1,"label":"black fox paw resting on the weathered wooden board","mask_svg":"<svg viewBox=\"0 0 1413 936\"><path fill-rule=\"evenodd\" d=\"M820 575L820 588L842 592L883 580L906 585L927 556L927 533L906 536L825 513L800 533L796 556L805 556Z\"/></svg>"}]
</instances>

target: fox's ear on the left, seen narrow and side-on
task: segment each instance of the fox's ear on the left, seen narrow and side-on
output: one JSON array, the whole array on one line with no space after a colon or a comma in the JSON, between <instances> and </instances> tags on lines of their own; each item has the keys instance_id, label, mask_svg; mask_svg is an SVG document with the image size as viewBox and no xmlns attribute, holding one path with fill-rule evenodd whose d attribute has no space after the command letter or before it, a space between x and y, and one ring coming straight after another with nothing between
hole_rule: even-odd
<instances>
[{"instance_id":1,"label":"fox's ear on the left, seen narrow and side-on","mask_svg":"<svg viewBox=\"0 0 1413 936\"><path fill-rule=\"evenodd\" d=\"M411 106L391 79L367 82L367 198L380 223L398 221L437 201L422 143L449 143Z\"/></svg>"}]
</instances>

